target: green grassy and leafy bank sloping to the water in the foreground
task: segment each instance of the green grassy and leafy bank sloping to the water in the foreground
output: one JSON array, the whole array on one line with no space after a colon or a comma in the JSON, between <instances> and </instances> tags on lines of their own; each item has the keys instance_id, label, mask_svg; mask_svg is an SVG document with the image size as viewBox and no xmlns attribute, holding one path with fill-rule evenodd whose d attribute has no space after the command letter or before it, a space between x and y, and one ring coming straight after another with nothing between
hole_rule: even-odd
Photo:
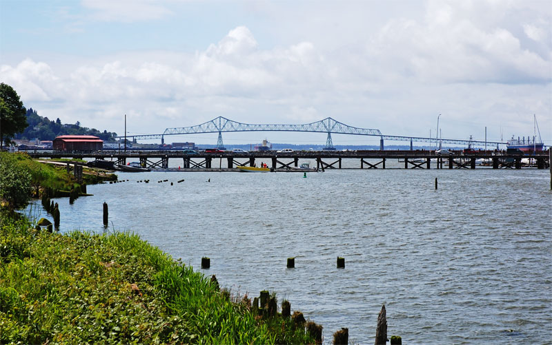
<instances>
[{"instance_id":1,"label":"green grassy and leafy bank sloping to the water in the foreground","mask_svg":"<svg viewBox=\"0 0 552 345\"><path fill-rule=\"evenodd\" d=\"M1 344L317 342L321 326L300 313L277 313L276 305L274 295L260 306L257 298L230 297L216 280L135 234L62 235L1 211Z\"/></svg>"}]
</instances>

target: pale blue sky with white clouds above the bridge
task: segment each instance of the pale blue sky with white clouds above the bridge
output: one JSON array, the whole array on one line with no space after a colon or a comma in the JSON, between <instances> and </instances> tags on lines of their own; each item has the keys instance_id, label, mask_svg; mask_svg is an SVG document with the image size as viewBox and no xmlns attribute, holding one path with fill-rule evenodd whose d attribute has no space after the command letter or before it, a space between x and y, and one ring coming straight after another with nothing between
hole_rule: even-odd
<instances>
[{"instance_id":1,"label":"pale blue sky with white clouds above the bridge","mask_svg":"<svg viewBox=\"0 0 552 345\"><path fill-rule=\"evenodd\" d=\"M0 80L63 123L157 134L328 116L399 136L552 145L549 1L0 0ZM225 143L325 143L225 134ZM196 143L216 135L184 137ZM335 136L335 144L377 138Z\"/></svg>"}]
</instances>

